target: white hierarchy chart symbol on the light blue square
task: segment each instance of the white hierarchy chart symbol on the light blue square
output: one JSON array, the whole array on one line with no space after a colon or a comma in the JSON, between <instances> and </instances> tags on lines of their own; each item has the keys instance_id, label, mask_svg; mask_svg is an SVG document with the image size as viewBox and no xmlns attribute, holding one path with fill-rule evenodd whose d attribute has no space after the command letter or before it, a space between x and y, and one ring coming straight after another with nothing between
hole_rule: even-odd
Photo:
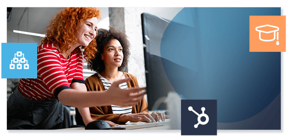
<instances>
[{"instance_id":1,"label":"white hierarchy chart symbol on the light blue square","mask_svg":"<svg viewBox=\"0 0 289 137\"><path fill-rule=\"evenodd\" d=\"M17 53L14 54L14 58L13 60L11 60L9 68L15 69L15 65L17 69L22 69L22 65L24 65L24 69L29 69L28 61L25 59L24 53L22 53L21 51L17 51Z\"/></svg>"}]
</instances>

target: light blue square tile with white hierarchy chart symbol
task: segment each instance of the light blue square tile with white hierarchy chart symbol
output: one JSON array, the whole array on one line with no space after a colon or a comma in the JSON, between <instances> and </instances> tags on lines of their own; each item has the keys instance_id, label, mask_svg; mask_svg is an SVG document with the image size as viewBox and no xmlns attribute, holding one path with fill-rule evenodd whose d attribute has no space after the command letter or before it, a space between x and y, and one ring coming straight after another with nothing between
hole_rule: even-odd
<instances>
[{"instance_id":1,"label":"light blue square tile with white hierarchy chart symbol","mask_svg":"<svg viewBox=\"0 0 289 137\"><path fill-rule=\"evenodd\" d=\"M37 43L1 43L1 78L37 78Z\"/></svg>"}]
</instances>

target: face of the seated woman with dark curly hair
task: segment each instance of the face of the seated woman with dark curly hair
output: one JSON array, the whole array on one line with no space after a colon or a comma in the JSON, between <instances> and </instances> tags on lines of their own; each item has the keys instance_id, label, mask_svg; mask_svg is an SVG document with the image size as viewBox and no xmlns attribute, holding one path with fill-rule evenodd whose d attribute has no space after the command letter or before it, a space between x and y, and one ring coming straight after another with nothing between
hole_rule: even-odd
<instances>
[{"instance_id":1,"label":"face of the seated woman with dark curly hair","mask_svg":"<svg viewBox=\"0 0 289 137\"><path fill-rule=\"evenodd\" d=\"M111 39L109 43L103 47L101 59L104 62L105 68L118 68L123 61L122 46L117 39Z\"/></svg>"}]
</instances>

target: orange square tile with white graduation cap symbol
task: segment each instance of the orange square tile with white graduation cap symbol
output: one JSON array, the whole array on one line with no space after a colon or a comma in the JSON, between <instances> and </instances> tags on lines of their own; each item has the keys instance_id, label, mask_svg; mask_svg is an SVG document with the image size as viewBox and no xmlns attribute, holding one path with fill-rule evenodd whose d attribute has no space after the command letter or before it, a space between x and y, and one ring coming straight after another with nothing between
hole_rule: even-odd
<instances>
[{"instance_id":1,"label":"orange square tile with white graduation cap symbol","mask_svg":"<svg viewBox=\"0 0 289 137\"><path fill-rule=\"evenodd\" d=\"M250 52L286 52L286 16L250 16Z\"/></svg>"}]
</instances>

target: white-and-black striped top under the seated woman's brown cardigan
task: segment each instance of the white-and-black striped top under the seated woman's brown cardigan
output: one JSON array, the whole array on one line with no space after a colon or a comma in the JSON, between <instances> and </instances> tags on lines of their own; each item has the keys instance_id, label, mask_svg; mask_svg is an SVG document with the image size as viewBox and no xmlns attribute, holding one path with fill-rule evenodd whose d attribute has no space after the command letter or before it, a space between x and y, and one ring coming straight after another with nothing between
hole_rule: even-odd
<instances>
[{"instance_id":1,"label":"white-and-black striped top under the seated woman's brown cardigan","mask_svg":"<svg viewBox=\"0 0 289 137\"><path fill-rule=\"evenodd\" d=\"M108 88L111 86L111 82L105 79L103 76L101 76L99 73L97 73L98 77L100 78L105 90L108 90ZM125 78L123 74L123 79ZM119 84L121 89L128 89L127 83L121 83ZM126 107L120 107L117 105L111 105L112 113L113 114L131 114L132 113L132 106L126 106Z\"/></svg>"}]
</instances>

